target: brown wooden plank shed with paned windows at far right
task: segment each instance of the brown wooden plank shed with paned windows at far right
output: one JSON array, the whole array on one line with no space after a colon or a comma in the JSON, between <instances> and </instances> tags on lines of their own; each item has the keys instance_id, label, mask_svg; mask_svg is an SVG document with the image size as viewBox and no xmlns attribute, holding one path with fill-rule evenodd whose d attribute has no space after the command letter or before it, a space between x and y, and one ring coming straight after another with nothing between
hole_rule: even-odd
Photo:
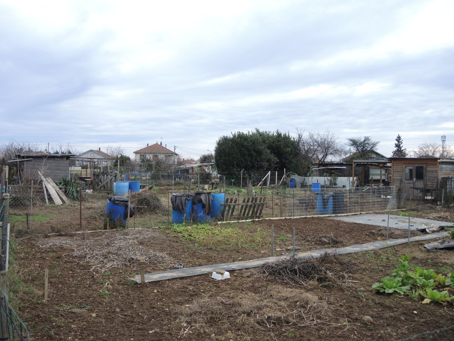
<instances>
[{"instance_id":1,"label":"brown wooden plank shed with paned windows at far right","mask_svg":"<svg viewBox=\"0 0 454 341\"><path fill-rule=\"evenodd\" d=\"M454 176L454 159L438 157L391 157L393 186L407 198L435 199L440 179Z\"/></svg>"}]
</instances>

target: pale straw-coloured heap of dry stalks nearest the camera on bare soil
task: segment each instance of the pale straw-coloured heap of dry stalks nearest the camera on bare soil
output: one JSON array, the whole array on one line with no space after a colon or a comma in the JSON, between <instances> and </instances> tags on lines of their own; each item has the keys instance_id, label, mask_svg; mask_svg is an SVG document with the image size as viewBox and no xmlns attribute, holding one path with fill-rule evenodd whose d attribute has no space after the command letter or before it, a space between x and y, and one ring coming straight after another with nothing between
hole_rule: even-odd
<instances>
[{"instance_id":1,"label":"pale straw-coloured heap of dry stalks nearest the camera on bare soil","mask_svg":"<svg viewBox=\"0 0 454 341\"><path fill-rule=\"evenodd\" d=\"M221 297L197 299L182 309L183 321L209 325L229 321L264 326L311 326L329 323L330 310L326 301L295 288L270 286L261 294L247 292L229 301Z\"/></svg>"}]
</instances>

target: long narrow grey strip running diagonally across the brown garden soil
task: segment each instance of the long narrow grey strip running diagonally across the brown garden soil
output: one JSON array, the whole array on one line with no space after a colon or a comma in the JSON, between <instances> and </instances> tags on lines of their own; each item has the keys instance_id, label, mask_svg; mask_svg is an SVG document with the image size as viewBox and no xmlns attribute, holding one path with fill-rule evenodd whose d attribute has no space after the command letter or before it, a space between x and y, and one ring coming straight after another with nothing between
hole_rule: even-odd
<instances>
[{"instance_id":1,"label":"long narrow grey strip running diagonally across the brown garden soil","mask_svg":"<svg viewBox=\"0 0 454 341\"><path fill-rule=\"evenodd\" d=\"M437 239L437 238L441 238L441 237L445 237L445 236L448 236L447 232L439 232L439 233L432 233L429 235L411 237L410 241L426 241L429 239ZM346 255L346 254L355 253L355 252L383 249L385 247L405 244L407 242L408 242L408 238L390 239L389 241L374 241L374 242L367 243L367 244L356 244L356 245L351 245L351 246L347 246L347 247L341 247L338 249L321 249L321 250L315 250L315 251L309 251L309 252L299 252L296 254L296 256L297 257L312 256L313 258L318 258L325 252L337 253L339 255ZM279 258L287 257L287 256L292 256L292 254L289 253L289 254L277 256L277 257L266 257L266 258L253 259L252 261L213 264L213 265L206 265L206 266L195 266L195 267L190 267L190 268L153 272L153 273L145 274L145 282L163 281L163 280L170 280L173 278L203 275L203 274L210 273L210 272L213 272L216 270L231 271L231 270L255 268L255 267L262 266L263 264L266 264L266 263L276 262ZM132 281L136 281L137 283L141 283L140 275L137 275L137 276L135 276L133 278L129 278L129 279Z\"/></svg>"}]
</instances>

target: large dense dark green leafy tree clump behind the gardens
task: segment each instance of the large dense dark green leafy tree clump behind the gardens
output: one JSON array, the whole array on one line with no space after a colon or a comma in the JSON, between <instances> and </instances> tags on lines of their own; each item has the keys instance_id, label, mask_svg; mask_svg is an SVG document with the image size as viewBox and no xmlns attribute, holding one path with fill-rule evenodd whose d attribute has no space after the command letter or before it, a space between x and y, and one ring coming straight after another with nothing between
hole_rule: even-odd
<instances>
[{"instance_id":1,"label":"large dense dark green leafy tree clump behind the gardens","mask_svg":"<svg viewBox=\"0 0 454 341\"><path fill-rule=\"evenodd\" d=\"M289 134L271 131L221 136L216 143L215 165L219 173L247 171L296 171L300 149Z\"/></svg>"}]
</instances>

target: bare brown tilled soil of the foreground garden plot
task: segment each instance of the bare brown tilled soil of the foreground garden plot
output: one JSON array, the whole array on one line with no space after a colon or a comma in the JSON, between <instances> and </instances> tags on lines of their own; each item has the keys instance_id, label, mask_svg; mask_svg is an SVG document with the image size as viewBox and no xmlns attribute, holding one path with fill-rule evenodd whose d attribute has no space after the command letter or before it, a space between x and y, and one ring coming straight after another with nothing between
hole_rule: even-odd
<instances>
[{"instance_id":1,"label":"bare brown tilled soil of the foreground garden plot","mask_svg":"<svg viewBox=\"0 0 454 341\"><path fill-rule=\"evenodd\" d=\"M341 238L345 245L370 242L382 236L376 226L326 218L272 222L276 239L290 238L292 227L295 226L298 231L296 244L308 250L324 247L307 241L308 238L327 233ZM235 228L245 231L256 231L257 228L269 230L270 225L271 221L261 221L237 224ZM203 298L217 300L220 297L229 302L238 296L251 293L259 295L270 286L282 289L295 286L264 280L248 269L232 271L232 278L226 281L215 281L208 275L201 275L143 286L133 285L128 278L138 274L141 266L146 272L154 272L163 271L163 265L152 262L108 271L103 268L90 271L92 264L86 262L84 257L72 256L72 248L40 246L55 240L84 243L99 238L99 235L129 232L82 233L50 239L29 236L18 240L15 252L20 268L28 274L26 284L42 291L44 268L49 269L48 301L43 301L42 292L20 297L20 313L25 316L34 340L175 340L178 337L188 340L377 340L382 337L398 340L454 324L452 305L421 305L420 300L409 297L372 294L371 285L395 267L395 261L401 254L412 256L411 262L418 266L432 267L443 273L454 270L454 254L450 251L425 250L424 242L341 256L348 257L356 266L351 282L332 288L318 284L297 287L327 301L327 323L273 328L222 320L211 321L207 325L188 324L183 311L186 306ZM169 264L182 262L185 266L200 266L236 261L240 257L243 260L264 257L271 253L269 245L257 250L241 247L227 250L224 245L213 245L211 249L197 248L180 236L174 236L168 228L152 230L150 233L149 238L139 244L153 251L165 252L171 260ZM400 233L391 230L392 236ZM289 239L280 242L276 248L290 245ZM71 309L82 312L73 312ZM372 317L372 326L361 323L366 315Z\"/></svg>"}]
</instances>

